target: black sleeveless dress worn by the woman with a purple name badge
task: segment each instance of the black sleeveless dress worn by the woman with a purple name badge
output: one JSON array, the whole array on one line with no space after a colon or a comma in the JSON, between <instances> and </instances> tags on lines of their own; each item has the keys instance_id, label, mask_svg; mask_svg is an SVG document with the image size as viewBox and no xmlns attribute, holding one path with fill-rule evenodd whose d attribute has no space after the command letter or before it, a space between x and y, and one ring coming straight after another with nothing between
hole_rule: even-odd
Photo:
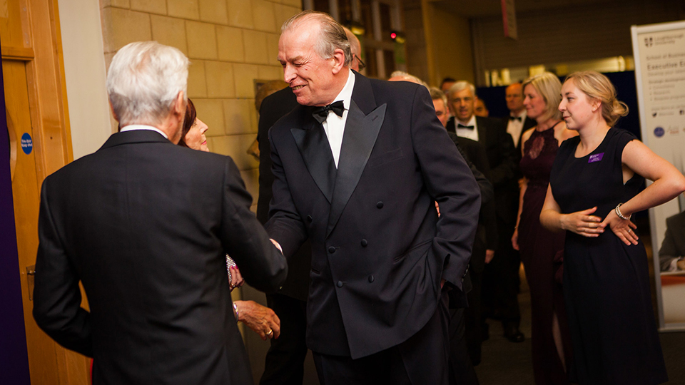
<instances>
[{"instance_id":1,"label":"black sleeveless dress worn by the woman with a purple name badge","mask_svg":"<svg viewBox=\"0 0 685 385\"><path fill-rule=\"evenodd\" d=\"M611 128L589 155L575 158L579 137L562 143L550 184L562 213L597 206L607 217L634 197L644 178L625 185L621 155L635 137ZM579 384L661 384L668 381L651 306L644 245L625 245L609 227L597 238L566 232L564 299Z\"/></svg>"}]
</instances>

